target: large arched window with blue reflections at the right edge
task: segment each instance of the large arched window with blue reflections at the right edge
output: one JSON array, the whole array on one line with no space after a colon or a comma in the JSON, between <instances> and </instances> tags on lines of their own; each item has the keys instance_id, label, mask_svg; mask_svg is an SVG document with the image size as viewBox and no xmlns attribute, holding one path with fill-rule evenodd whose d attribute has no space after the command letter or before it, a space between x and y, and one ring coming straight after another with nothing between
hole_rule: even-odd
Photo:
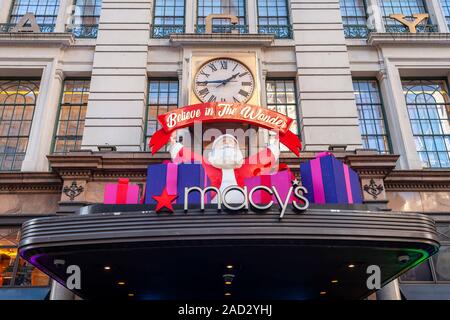
<instances>
[{"instance_id":1,"label":"large arched window with blue reflections at the right edge","mask_svg":"<svg viewBox=\"0 0 450 320\"><path fill-rule=\"evenodd\" d=\"M445 80L408 80L402 84L423 166L450 167L450 99Z\"/></svg>"}]
</instances>

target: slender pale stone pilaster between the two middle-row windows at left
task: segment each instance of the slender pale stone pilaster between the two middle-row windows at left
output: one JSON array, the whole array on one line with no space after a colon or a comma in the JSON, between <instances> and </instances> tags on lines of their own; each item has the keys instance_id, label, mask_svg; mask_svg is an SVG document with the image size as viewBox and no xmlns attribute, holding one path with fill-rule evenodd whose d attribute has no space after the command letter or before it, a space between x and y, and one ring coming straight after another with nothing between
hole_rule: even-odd
<instances>
[{"instance_id":1,"label":"slender pale stone pilaster between the two middle-row windows at left","mask_svg":"<svg viewBox=\"0 0 450 320\"><path fill-rule=\"evenodd\" d=\"M56 68L56 64L56 59L48 63L42 73L22 171L48 170L46 155L51 151L59 98L64 81L64 74L62 70Z\"/></svg>"}]
</instances>

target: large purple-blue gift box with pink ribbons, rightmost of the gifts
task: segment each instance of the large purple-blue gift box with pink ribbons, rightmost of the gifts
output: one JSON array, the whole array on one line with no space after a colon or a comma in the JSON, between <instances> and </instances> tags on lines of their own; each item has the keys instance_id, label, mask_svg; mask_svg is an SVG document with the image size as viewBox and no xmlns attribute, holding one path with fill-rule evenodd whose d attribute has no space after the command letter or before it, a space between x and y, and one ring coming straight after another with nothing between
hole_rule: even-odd
<instances>
[{"instance_id":1,"label":"large purple-blue gift box with pink ribbons, rightmost of the gifts","mask_svg":"<svg viewBox=\"0 0 450 320\"><path fill-rule=\"evenodd\" d=\"M362 203L358 174L330 152L322 152L314 160L300 164L300 175L311 203Z\"/></svg>"}]
</instances>

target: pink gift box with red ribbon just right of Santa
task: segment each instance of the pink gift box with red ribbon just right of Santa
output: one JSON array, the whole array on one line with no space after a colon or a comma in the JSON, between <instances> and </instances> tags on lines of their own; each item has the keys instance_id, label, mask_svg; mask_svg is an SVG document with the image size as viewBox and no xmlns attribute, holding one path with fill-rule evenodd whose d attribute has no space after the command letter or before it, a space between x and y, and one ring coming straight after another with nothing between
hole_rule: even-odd
<instances>
[{"instance_id":1,"label":"pink gift box with red ribbon just right of Santa","mask_svg":"<svg viewBox=\"0 0 450 320\"><path fill-rule=\"evenodd\" d=\"M282 170L270 175L260 175L251 178L244 179L244 185L247 187L248 191L252 190L257 186L266 186L272 188L275 186L281 199L285 201L289 189L292 187L292 179L294 178L290 170ZM271 200L278 203L275 195L270 195L264 190L255 191L252 195L252 199L257 204L266 204ZM289 203L292 203L293 194L289 199Z\"/></svg>"}]
</instances>

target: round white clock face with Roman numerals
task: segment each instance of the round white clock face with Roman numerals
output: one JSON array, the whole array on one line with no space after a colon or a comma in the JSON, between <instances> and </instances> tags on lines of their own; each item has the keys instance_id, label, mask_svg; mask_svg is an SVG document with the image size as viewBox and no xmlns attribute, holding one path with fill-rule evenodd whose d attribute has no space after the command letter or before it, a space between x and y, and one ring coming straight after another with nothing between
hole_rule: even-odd
<instances>
[{"instance_id":1,"label":"round white clock face with Roman numerals","mask_svg":"<svg viewBox=\"0 0 450 320\"><path fill-rule=\"evenodd\" d=\"M194 92L203 102L247 102L254 90L250 70L239 61L220 58L205 63L194 79Z\"/></svg>"}]
</instances>

